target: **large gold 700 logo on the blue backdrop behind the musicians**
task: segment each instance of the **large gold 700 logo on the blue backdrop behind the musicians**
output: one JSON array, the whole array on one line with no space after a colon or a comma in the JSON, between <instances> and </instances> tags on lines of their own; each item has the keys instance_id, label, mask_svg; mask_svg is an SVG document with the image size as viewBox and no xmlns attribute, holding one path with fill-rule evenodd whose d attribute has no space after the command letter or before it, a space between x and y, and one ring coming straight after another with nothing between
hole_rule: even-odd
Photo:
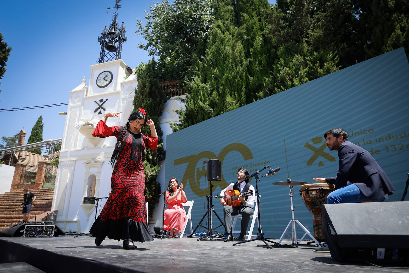
<instances>
[{"instance_id":1,"label":"large gold 700 logo on the blue backdrop behind the musicians","mask_svg":"<svg viewBox=\"0 0 409 273\"><path fill-rule=\"evenodd\" d=\"M192 192L196 194L197 196L204 196L206 192L208 192L209 187L206 187L205 189L201 189L200 188L200 178L206 175L207 170L205 169L205 166L202 166L202 170L200 170L199 168L196 169L196 166L198 165L200 161L202 161L203 158L218 159L222 162L222 169L223 169L223 160L225 159L227 154L231 151L238 151L239 153L241 153L241 155L243 156L243 160L249 160L253 158L252 152L246 145L241 144L241 143L231 143L227 145L226 147L224 147L220 151L218 156L216 156L216 154L214 154L211 151L202 151L198 153L197 155L185 156L179 159L175 159L173 161L173 165L176 166L176 165L188 163L187 168L184 171L182 183L184 185L189 184ZM223 170L222 170L222 180L213 181L212 185L214 186L213 189L216 189L217 186L224 189L225 187L227 187L227 185L229 185L223 176Z\"/></svg>"}]
</instances>

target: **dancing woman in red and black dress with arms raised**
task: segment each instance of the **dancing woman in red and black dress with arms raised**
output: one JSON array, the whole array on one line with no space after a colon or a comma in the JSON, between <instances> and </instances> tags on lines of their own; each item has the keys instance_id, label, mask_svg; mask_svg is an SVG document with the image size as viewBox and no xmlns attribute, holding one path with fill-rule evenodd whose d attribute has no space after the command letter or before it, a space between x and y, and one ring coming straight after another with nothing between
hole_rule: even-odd
<instances>
[{"instance_id":1,"label":"dancing woman in red and black dress with arms raised","mask_svg":"<svg viewBox=\"0 0 409 273\"><path fill-rule=\"evenodd\" d=\"M137 250L134 241L153 241L146 219L145 172L142 150L147 147L155 150L158 138L155 124L147 120L144 109L132 113L125 126L108 127L108 117L119 117L115 112L103 115L93 136L106 138L115 136L117 143L110 163L114 170L111 177L111 193L101 214L95 220L90 232L99 246L105 237L124 240L124 249ZM152 136L138 133L147 124Z\"/></svg>"}]
</instances>

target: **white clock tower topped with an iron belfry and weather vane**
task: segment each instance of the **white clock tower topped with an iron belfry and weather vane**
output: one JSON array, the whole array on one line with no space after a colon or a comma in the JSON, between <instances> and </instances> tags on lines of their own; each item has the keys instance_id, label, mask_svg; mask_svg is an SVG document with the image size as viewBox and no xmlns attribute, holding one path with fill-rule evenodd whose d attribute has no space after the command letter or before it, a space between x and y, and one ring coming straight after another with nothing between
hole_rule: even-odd
<instances>
[{"instance_id":1,"label":"white clock tower topped with an iron belfry and weather vane","mask_svg":"<svg viewBox=\"0 0 409 273\"><path fill-rule=\"evenodd\" d=\"M52 210L56 223L65 231L88 232L110 192L112 167L108 163L115 138L92 136L106 112L122 112L108 126L124 125L133 110L136 75L121 60L125 27L117 27L117 10L109 29L98 38L99 63L91 65L89 86L82 83L70 91L61 145ZM98 205L99 210L97 211Z\"/></svg>"}]
</instances>

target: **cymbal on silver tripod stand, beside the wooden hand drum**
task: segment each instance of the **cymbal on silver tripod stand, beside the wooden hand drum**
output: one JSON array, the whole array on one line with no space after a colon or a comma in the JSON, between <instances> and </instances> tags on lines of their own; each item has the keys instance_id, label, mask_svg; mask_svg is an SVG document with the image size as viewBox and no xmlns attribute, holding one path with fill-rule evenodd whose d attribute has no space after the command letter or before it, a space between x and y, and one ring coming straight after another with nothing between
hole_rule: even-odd
<instances>
[{"instance_id":1,"label":"cymbal on silver tripod stand, beside the wooden hand drum","mask_svg":"<svg viewBox=\"0 0 409 273\"><path fill-rule=\"evenodd\" d=\"M280 243L283 240L284 235L287 233L288 229L290 228L290 225L292 225L291 242L292 242L293 245L299 244L306 235L310 236L311 239L313 239L319 245L319 242L317 241L317 239L315 239L315 237L312 236L312 234L308 231L308 229L306 229L300 221L295 219L295 216L294 216L294 205L292 203L292 196L293 196L294 192L292 192L292 185L303 185L303 184L307 184L307 183L302 182L302 181L291 181L290 178L287 178L287 181L274 182L273 184L274 185L285 185L284 183L288 184L288 187L290 188L291 216L292 216L292 219L288 223L287 227L285 228L283 234L281 235L279 241L276 243L275 247L277 248L277 247L280 246ZM301 239L299 239L299 240L297 240L297 230L296 230L295 223L297 223L306 232L306 233L304 233L303 237L301 237ZM288 237L290 237L290 236L288 235Z\"/></svg>"}]
</instances>

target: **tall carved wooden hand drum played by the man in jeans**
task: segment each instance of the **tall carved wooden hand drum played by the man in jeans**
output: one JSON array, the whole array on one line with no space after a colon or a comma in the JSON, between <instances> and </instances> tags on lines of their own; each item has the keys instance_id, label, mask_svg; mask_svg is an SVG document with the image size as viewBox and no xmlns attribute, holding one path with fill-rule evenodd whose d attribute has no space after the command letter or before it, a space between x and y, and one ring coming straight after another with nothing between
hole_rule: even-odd
<instances>
[{"instance_id":1,"label":"tall carved wooden hand drum played by the man in jeans","mask_svg":"<svg viewBox=\"0 0 409 273\"><path fill-rule=\"evenodd\" d=\"M314 237L317 241L325 241L322 232L321 205L327 203L327 196L333 190L335 190L335 186L327 183L305 184L300 188L303 202L313 216Z\"/></svg>"}]
</instances>

